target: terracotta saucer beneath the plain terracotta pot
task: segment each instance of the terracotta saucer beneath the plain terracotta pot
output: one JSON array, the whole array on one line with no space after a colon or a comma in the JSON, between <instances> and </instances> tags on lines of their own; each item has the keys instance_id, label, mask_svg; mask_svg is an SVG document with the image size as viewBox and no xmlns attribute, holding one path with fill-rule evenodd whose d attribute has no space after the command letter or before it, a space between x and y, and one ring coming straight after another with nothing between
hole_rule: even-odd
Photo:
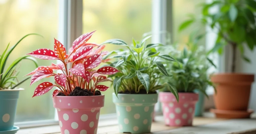
<instances>
[{"instance_id":1,"label":"terracotta saucer beneath the plain terracotta pot","mask_svg":"<svg viewBox=\"0 0 256 134\"><path fill-rule=\"evenodd\" d=\"M248 109L247 111L229 111L229 110L219 110L219 109L210 109L210 112L215 113L216 118L250 118L251 113L254 111Z\"/></svg>"}]
</instances>

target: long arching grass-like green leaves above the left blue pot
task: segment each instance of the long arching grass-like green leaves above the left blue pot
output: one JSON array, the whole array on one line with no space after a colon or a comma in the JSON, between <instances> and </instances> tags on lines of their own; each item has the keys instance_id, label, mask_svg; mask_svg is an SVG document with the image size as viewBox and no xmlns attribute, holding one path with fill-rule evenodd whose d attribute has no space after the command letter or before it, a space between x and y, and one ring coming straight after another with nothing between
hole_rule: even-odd
<instances>
[{"instance_id":1,"label":"long arching grass-like green leaves above the left blue pot","mask_svg":"<svg viewBox=\"0 0 256 134\"><path fill-rule=\"evenodd\" d=\"M26 38L29 35L39 35L35 33L27 34L23 38L21 38L14 46L12 46L9 50L8 47L10 43L7 45L4 52L0 55L0 90L3 89L14 89L26 80L28 80L30 77L27 77L23 79L22 81L18 81L17 77L19 74L19 71L17 71L17 65L24 59L31 60L33 63L35 63L36 67L38 67L37 61L35 58L25 55L17 58L10 64L9 66L6 65L6 62L8 60L8 57L14 50L14 48L22 41L24 38ZM41 35L39 35L41 36ZM16 80L16 81L15 81Z\"/></svg>"}]
</instances>

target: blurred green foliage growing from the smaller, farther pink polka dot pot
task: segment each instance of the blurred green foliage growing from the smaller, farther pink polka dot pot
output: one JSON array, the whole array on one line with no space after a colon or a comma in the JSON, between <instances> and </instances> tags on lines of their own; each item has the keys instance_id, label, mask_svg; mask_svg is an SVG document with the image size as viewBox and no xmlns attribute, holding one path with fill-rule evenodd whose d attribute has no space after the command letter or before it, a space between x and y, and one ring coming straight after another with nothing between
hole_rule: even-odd
<instances>
[{"instance_id":1,"label":"blurred green foliage growing from the smaller, farther pink polka dot pot","mask_svg":"<svg viewBox=\"0 0 256 134\"><path fill-rule=\"evenodd\" d=\"M167 64L167 71L172 77L161 79L161 83L167 82L178 92L194 92L199 90L208 96L205 92L207 86L213 86L207 71L215 64L207 57L202 46L197 45L202 35L195 36L195 32L190 34L189 42L182 51L178 51L177 45L167 45L166 53L171 53L178 62ZM189 48L189 50L187 49ZM168 50L168 51L167 51ZM169 92L168 87L162 91Z\"/></svg>"}]
</instances>

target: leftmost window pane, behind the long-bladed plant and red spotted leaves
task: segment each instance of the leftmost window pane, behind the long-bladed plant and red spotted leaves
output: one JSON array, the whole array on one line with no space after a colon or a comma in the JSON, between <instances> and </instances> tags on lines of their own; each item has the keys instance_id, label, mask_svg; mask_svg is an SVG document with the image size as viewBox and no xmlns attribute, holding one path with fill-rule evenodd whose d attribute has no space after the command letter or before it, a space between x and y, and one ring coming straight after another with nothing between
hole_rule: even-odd
<instances>
[{"instance_id":1,"label":"leftmost window pane, behind the long-bladed plant and red spotted leaves","mask_svg":"<svg viewBox=\"0 0 256 134\"><path fill-rule=\"evenodd\" d=\"M3 52L9 42L10 46L13 46L26 34L38 33L44 36L41 38L30 35L25 38L9 56L7 65L10 65L19 56L36 49L52 49L54 37L57 38L58 35L58 1L0 0L0 16L0 53ZM38 59L39 66L48 66L52 62L55 61ZM18 80L24 79L23 76L35 69L35 65L27 60L24 60L17 67L17 71L20 71ZM46 78L31 86L29 86L29 79L19 86L25 90L20 91L19 94L15 122L54 118L52 92L31 99L36 86L47 80L52 81L53 79Z\"/></svg>"}]
</instances>

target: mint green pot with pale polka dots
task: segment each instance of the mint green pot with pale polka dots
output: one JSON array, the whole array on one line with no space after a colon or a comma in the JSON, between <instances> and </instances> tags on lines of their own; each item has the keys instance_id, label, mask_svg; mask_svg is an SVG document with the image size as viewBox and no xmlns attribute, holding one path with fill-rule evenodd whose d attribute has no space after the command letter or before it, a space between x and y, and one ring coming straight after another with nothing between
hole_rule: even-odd
<instances>
[{"instance_id":1,"label":"mint green pot with pale polka dots","mask_svg":"<svg viewBox=\"0 0 256 134\"><path fill-rule=\"evenodd\" d=\"M121 133L150 133L158 94L113 95Z\"/></svg>"}]
</instances>

